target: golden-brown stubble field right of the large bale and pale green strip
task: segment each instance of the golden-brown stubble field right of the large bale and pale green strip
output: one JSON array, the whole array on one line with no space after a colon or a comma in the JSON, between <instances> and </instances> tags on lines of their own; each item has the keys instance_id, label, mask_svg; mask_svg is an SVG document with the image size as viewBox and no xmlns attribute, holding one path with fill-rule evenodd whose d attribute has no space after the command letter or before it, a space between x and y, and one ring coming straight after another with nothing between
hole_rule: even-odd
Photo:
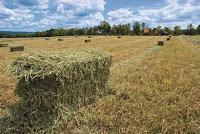
<instances>
[{"instance_id":1,"label":"golden-brown stubble field right of the large bale and pale green strip","mask_svg":"<svg viewBox=\"0 0 200 134\"><path fill-rule=\"evenodd\" d=\"M115 63L107 96L74 113L61 133L200 133L198 48L173 37Z\"/></svg>"}]
</instances>

